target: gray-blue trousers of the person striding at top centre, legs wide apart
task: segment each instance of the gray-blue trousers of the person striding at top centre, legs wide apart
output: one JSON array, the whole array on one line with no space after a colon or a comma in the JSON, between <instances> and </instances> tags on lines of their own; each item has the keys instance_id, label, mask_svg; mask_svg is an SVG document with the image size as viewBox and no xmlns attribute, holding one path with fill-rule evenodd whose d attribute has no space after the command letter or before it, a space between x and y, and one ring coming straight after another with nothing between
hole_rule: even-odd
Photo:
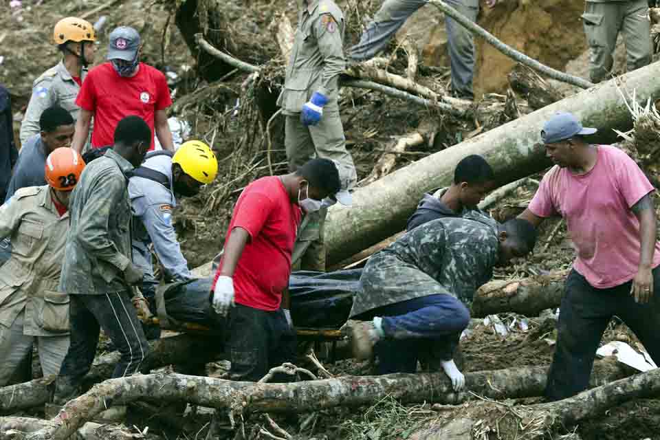
<instances>
[{"instance_id":1,"label":"gray-blue trousers of the person striding at top centre, legs wide apart","mask_svg":"<svg viewBox=\"0 0 660 440\"><path fill-rule=\"evenodd\" d=\"M465 0L445 0L452 8L472 21L476 21L478 7L469 6ZM373 58L383 50L397 31L426 0L385 0L380 10L360 37L360 43L351 47L349 57L355 61ZM452 91L461 98L474 98L474 41L472 33L457 21L445 17L447 46L452 67Z\"/></svg>"}]
</instances>

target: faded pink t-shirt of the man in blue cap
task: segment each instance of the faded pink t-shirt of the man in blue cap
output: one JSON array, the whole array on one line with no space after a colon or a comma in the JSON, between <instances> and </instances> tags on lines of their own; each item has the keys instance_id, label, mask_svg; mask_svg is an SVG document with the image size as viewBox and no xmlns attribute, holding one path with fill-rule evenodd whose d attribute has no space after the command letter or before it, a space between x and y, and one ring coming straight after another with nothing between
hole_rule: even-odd
<instances>
[{"instance_id":1,"label":"faded pink t-shirt of the man in blue cap","mask_svg":"<svg viewBox=\"0 0 660 440\"><path fill-rule=\"evenodd\" d=\"M639 221L630 208L653 190L637 164L614 146L599 145L596 164L584 175L554 166L543 177L529 210L560 214L577 250L573 268L589 284L606 289L635 278L639 268ZM660 243L653 264L660 263Z\"/></svg>"}]
</instances>

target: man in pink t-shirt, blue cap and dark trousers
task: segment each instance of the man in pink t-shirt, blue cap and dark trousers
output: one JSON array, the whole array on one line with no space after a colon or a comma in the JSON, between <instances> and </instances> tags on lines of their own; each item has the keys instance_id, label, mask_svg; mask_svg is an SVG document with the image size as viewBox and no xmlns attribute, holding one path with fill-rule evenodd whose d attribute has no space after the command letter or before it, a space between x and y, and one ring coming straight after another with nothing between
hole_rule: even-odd
<instances>
[{"instance_id":1,"label":"man in pink t-shirt, blue cap and dark trousers","mask_svg":"<svg viewBox=\"0 0 660 440\"><path fill-rule=\"evenodd\" d=\"M613 316L623 320L660 362L660 247L651 192L637 164L614 146L588 144L596 129L557 113L541 131L555 166L543 177L520 218L538 225L566 220L577 258L566 279L547 399L584 391L602 335Z\"/></svg>"}]
</instances>

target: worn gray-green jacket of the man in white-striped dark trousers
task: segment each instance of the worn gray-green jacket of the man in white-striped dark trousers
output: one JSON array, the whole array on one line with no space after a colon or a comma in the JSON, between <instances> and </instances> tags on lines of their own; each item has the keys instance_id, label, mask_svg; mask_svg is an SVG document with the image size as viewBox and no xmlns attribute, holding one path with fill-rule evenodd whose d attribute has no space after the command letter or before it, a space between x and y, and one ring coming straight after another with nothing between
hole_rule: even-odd
<instances>
[{"instance_id":1,"label":"worn gray-green jacket of the man in white-striped dark trousers","mask_svg":"<svg viewBox=\"0 0 660 440\"><path fill-rule=\"evenodd\" d=\"M112 149L90 162L69 202L60 291L107 294L129 289L124 270L131 263L131 201L126 173L133 166Z\"/></svg>"}]
</instances>

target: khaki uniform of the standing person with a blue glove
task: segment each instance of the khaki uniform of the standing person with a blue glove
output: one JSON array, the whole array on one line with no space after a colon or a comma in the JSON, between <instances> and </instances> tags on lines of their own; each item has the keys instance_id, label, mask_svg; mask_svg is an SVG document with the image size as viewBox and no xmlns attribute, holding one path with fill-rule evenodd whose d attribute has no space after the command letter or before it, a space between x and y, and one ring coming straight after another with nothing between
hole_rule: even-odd
<instances>
[{"instance_id":1,"label":"khaki uniform of the standing person with a blue glove","mask_svg":"<svg viewBox=\"0 0 660 440\"><path fill-rule=\"evenodd\" d=\"M355 186L357 174L353 157L346 149L344 127L339 115L339 75L344 72L344 14L331 0L303 2L298 13L298 28L287 65L285 85L277 104L285 115L285 149L289 170L294 171L309 159L336 160L347 176L347 188ZM303 105L315 91L328 103L315 126L300 121ZM323 223L327 210L311 214L299 229L294 262L305 270L325 270Z\"/></svg>"}]
</instances>

